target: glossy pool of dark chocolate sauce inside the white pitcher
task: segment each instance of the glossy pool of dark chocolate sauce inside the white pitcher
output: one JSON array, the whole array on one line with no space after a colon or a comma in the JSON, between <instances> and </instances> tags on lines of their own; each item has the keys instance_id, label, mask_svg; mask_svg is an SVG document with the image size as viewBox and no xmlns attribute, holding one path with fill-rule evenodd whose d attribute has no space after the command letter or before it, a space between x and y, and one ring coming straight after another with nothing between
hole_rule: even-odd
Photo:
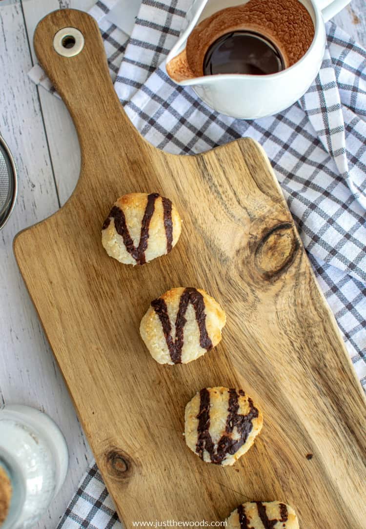
<instances>
[{"instance_id":1,"label":"glossy pool of dark chocolate sauce inside the white pitcher","mask_svg":"<svg viewBox=\"0 0 366 529\"><path fill-rule=\"evenodd\" d=\"M275 44L254 31L233 31L217 39L208 48L204 75L276 74L285 63Z\"/></svg>"}]
</instances>

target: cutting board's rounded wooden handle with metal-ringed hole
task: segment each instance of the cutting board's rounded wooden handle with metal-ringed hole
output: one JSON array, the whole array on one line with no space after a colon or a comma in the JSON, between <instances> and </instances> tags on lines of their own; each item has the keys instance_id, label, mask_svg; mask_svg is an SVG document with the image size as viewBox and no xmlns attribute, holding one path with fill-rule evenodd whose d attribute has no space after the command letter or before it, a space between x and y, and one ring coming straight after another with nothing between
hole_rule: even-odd
<instances>
[{"instance_id":1,"label":"cutting board's rounded wooden handle with metal-ringed hole","mask_svg":"<svg viewBox=\"0 0 366 529\"><path fill-rule=\"evenodd\" d=\"M140 136L115 93L102 35L93 17L74 9L53 11L35 29L34 50L68 107L82 153L85 142L88 148L99 149L100 134L111 141L117 130L118 138L126 141ZM121 127L125 134L121 135Z\"/></svg>"}]
</instances>

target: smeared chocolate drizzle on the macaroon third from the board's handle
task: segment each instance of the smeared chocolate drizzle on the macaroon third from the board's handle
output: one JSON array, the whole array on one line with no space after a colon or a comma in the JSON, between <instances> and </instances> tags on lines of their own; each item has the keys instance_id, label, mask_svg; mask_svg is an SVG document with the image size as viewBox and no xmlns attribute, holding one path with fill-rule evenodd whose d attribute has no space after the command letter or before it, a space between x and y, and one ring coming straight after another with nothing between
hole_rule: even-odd
<instances>
[{"instance_id":1,"label":"smeared chocolate drizzle on the macaroon third from the board's handle","mask_svg":"<svg viewBox=\"0 0 366 529\"><path fill-rule=\"evenodd\" d=\"M241 446L246 442L248 436L253 428L253 419L258 417L258 409L254 407L253 401L248 397L249 413L247 415L240 415L239 411L239 396L244 397L245 393L241 389L239 395L236 389L229 389L229 402L228 402L228 415L226 419L225 433L222 435L217 443L217 447L212 441L211 434L209 433L210 418L209 418L209 407L210 398L208 389L202 389L200 391L200 405L198 418L198 439L196 445L196 452L201 459L204 458L204 451L209 453L212 463L222 464L227 454L235 454ZM236 431L239 434L239 439L233 439L233 430L236 427Z\"/></svg>"}]
</instances>

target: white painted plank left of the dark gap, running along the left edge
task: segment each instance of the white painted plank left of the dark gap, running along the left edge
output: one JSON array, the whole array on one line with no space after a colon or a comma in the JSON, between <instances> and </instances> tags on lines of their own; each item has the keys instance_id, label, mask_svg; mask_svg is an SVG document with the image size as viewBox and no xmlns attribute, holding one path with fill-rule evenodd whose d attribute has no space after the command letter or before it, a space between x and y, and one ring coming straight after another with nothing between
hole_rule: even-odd
<instances>
[{"instance_id":1,"label":"white painted plank left of the dark gap, running along the left edge","mask_svg":"<svg viewBox=\"0 0 366 529\"><path fill-rule=\"evenodd\" d=\"M19 171L17 204L0 232L0 403L44 409L66 435L67 481L37 526L50 529L56 527L75 491L90 452L12 251L17 232L58 209L38 92L27 75L31 67L20 2L0 4L0 132Z\"/></svg>"}]
</instances>

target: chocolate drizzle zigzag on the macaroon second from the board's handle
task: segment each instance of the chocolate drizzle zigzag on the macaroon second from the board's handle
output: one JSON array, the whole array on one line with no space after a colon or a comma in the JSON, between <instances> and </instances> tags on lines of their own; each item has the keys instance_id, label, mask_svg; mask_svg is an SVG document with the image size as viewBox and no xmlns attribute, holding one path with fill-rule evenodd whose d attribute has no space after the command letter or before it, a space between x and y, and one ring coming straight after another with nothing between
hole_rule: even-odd
<instances>
[{"instance_id":1,"label":"chocolate drizzle zigzag on the macaroon second from the board's handle","mask_svg":"<svg viewBox=\"0 0 366 529\"><path fill-rule=\"evenodd\" d=\"M205 313L205 302L203 295L198 292L195 288L185 288L183 294L179 300L179 308L176 318L176 337L173 340L171 336L171 324L168 315L167 304L164 299L158 298L151 302L155 313L159 316L163 333L168 345L170 358L173 363L181 363L182 359L182 348L184 344L184 327L187 323L185 318L188 304L191 303L195 309L196 321L199 328L199 344L203 349L211 349L212 341L207 334L206 329L206 313Z\"/></svg>"}]
</instances>

